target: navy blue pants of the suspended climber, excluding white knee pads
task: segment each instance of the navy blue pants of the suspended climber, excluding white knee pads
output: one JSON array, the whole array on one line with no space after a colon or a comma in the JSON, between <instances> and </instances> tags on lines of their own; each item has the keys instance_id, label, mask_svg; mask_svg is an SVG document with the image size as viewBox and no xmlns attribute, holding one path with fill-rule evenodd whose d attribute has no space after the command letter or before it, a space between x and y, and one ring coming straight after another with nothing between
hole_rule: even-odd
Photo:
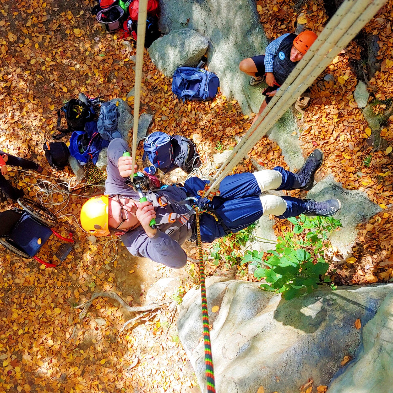
<instances>
[{"instance_id":1,"label":"navy blue pants of the suspended climber, excluding white knee pads","mask_svg":"<svg viewBox=\"0 0 393 393\"><path fill-rule=\"evenodd\" d=\"M283 176L283 181L277 190L293 189L297 174L286 171L282 167L275 167ZM184 183L185 191L190 196L198 196L198 191L203 190L208 180L197 177L189 178ZM220 196L214 196L208 205L215 210L222 224L217 222L210 214L200 216L200 231L203 242L212 242L223 237L229 232L238 232L247 228L263 215L262 203L259 198L261 189L252 173L238 173L226 176L220 183ZM277 216L284 219L296 217L305 212L305 202L292 196L283 196L286 201L286 211Z\"/></svg>"}]
</instances>

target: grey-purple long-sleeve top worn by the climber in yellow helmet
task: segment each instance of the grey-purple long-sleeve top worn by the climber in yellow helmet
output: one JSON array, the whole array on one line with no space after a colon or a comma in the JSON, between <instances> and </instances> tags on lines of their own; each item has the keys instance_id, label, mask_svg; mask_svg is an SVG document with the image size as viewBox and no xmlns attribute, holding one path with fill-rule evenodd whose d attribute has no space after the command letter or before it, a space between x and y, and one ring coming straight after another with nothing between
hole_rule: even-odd
<instances>
[{"instance_id":1,"label":"grey-purple long-sleeve top worn by the climber in yellow helmet","mask_svg":"<svg viewBox=\"0 0 393 393\"><path fill-rule=\"evenodd\" d=\"M123 178L119 174L118 160L123 156L124 150L129 151L129 147L121 138L115 138L108 146L108 178L105 182L105 193L107 195L124 195L127 198L139 200L138 193L125 183L127 178ZM166 196L175 202L182 201L187 197L181 188L171 185L154 193L157 196ZM149 198L148 195L147 197ZM156 217L163 217L168 213L185 214L187 210L184 205L168 204L165 207L155 207ZM120 238L132 255L150 258L152 261L163 263L171 268L181 268L187 262L187 254L181 245L192 235L191 222L187 222L180 229L167 235L165 231L172 228L177 228L177 226L174 227L171 223L162 224L156 235L149 238L142 226L138 226Z\"/></svg>"}]
</instances>

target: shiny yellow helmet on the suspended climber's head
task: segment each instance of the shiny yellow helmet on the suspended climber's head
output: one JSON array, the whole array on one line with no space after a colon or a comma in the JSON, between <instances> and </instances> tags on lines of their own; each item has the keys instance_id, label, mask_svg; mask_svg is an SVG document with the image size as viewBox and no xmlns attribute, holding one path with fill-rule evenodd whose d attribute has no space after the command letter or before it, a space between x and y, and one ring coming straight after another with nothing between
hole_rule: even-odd
<instances>
[{"instance_id":1,"label":"shiny yellow helmet on the suspended climber's head","mask_svg":"<svg viewBox=\"0 0 393 393\"><path fill-rule=\"evenodd\" d=\"M82 228L96 236L108 236L109 197L97 195L85 202L81 209Z\"/></svg>"}]
</instances>

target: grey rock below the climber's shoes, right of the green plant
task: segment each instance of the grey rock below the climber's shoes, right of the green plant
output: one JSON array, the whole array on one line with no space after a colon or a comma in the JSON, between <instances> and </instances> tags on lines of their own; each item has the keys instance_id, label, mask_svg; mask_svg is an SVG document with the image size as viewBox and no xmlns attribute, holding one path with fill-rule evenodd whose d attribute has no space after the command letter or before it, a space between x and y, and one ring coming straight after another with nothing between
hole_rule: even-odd
<instances>
[{"instance_id":1,"label":"grey rock below the climber's shoes, right of the green plant","mask_svg":"<svg viewBox=\"0 0 393 393\"><path fill-rule=\"evenodd\" d=\"M366 193L344 189L342 184L334 181L332 174L312 187L307 198L316 201L337 198L341 201L341 211L334 218L341 221L343 228L332 233L330 241L344 257L348 257L352 253L352 246L358 235L356 226L367 222L382 210L369 200Z\"/></svg>"}]
</instances>

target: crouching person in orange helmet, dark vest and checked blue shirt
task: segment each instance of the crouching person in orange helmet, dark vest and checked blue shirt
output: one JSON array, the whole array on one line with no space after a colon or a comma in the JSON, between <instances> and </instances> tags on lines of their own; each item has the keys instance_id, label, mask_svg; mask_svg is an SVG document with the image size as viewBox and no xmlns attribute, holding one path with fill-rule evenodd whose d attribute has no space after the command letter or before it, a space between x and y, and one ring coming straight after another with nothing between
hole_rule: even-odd
<instances>
[{"instance_id":1,"label":"crouching person in orange helmet, dark vest and checked blue shirt","mask_svg":"<svg viewBox=\"0 0 393 393\"><path fill-rule=\"evenodd\" d=\"M251 76L250 86L257 86L261 82L266 82L269 86L265 92L266 99L252 124L316 39L317 35L309 30L299 35L286 33L273 40L266 47L264 55L249 57L240 62L240 70Z\"/></svg>"}]
</instances>

